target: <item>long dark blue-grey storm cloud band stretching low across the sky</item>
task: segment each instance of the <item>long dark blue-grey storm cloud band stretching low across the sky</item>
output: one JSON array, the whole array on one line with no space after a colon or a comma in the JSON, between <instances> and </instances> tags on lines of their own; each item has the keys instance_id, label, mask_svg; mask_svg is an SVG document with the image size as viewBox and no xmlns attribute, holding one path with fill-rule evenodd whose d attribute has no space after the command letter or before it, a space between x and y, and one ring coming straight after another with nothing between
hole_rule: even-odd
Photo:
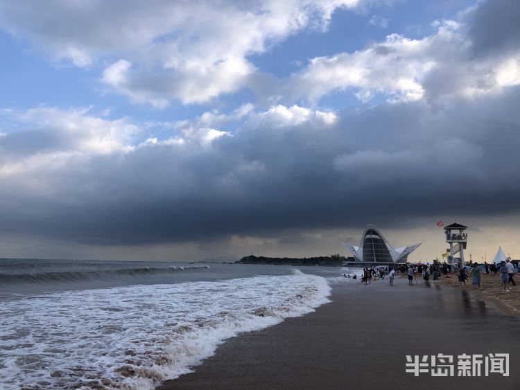
<instances>
[{"instance_id":1,"label":"long dark blue-grey storm cloud band stretching low across the sky","mask_svg":"<svg viewBox=\"0 0 520 390\"><path fill-rule=\"evenodd\" d=\"M333 125L251 117L207 147L73 157L3 180L1 227L120 245L519 211L519 102L515 87L442 109L345 112Z\"/></svg>"}]
</instances>

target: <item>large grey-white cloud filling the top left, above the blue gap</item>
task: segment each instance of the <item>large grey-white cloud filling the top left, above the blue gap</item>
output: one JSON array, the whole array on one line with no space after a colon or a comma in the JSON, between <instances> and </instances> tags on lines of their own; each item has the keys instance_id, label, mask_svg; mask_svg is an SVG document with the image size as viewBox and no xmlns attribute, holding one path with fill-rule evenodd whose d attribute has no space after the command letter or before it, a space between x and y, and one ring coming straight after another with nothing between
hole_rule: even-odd
<instances>
[{"instance_id":1,"label":"large grey-white cloud filling the top left, above the blue gap","mask_svg":"<svg viewBox=\"0 0 520 390\"><path fill-rule=\"evenodd\" d=\"M78 67L110 58L111 91L136 103L204 103L241 89L246 57L302 28L324 29L338 7L363 0L0 1L0 28ZM130 67L130 64L132 66Z\"/></svg>"}]
</instances>

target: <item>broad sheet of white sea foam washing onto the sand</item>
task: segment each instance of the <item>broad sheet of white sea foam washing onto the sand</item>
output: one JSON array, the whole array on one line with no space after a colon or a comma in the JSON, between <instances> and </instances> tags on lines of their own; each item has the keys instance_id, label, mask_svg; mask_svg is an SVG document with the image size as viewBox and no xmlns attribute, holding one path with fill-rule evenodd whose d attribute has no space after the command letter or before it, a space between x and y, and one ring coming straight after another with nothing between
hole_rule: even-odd
<instances>
[{"instance_id":1,"label":"broad sheet of white sea foam washing onto the sand","mask_svg":"<svg viewBox=\"0 0 520 390\"><path fill-rule=\"evenodd\" d=\"M0 387L153 389L225 339L328 302L320 276L135 285L31 296L0 307Z\"/></svg>"}]
</instances>

